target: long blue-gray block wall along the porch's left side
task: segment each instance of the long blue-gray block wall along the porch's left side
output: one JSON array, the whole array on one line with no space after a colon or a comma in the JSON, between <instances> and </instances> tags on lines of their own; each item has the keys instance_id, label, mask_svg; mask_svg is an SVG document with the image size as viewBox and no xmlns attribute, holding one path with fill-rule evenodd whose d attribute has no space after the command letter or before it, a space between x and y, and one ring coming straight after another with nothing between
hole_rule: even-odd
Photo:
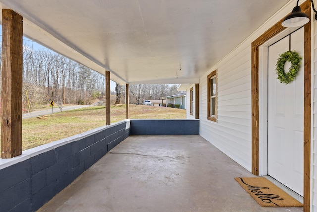
<instances>
[{"instance_id":1,"label":"long blue-gray block wall along the porch's left side","mask_svg":"<svg viewBox=\"0 0 317 212\"><path fill-rule=\"evenodd\" d=\"M126 139L129 136L126 126L127 121L122 121L104 129L98 128L77 140L48 148L35 156L30 154L25 160L1 168L0 211L32 212L39 209ZM3 167L3 161L19 160L19 157L1 160Z\"/></svg>"}]
</instances>

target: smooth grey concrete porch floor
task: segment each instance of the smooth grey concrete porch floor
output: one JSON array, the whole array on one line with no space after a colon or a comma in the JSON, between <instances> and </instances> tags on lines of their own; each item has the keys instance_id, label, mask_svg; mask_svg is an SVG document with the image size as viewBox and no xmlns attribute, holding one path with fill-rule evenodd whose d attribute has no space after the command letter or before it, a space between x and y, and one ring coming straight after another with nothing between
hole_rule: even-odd
<instances>
[{"instance_id":1,"label":"smooth grey concrete porch floor","mask_svg":"<svg viewBox=\"0 0 317 212\"><path fill-rule=\"evenodd\" d=\"M38 211L303 211L261 207L242 176L253 175L201 136L130 136Z\"/></svg>"}]
</instances>

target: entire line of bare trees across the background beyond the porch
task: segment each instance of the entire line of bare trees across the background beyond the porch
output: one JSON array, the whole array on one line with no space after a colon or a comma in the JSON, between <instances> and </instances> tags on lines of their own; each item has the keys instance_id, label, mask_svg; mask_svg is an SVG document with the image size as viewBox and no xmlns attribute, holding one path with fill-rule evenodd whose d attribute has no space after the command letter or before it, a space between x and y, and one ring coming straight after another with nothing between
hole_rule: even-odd
<instances>
[{"instance_id":1,"label":"entire line of bare trees across the background beyond the porch","mask_svg":"<svg viewBox=\"0 0 317 212\"><path fill-rule=\"evenodd\" d=\"M0 77L2 76L0 46ZM2 83L2 79L0 79ZM1 86L0 86L1 89ZM125 103L125 86L116 86L115 103ZM160 99L179 93L177 85L130 84L131 104L144 99ZM54 101L60 109L64 104L92 104L105 95L105 76L49 49L34 50L23 45L23 112L31 112L35 104ZM1 105L0 105L1 107Z\"/></svg>"}]
</instances>

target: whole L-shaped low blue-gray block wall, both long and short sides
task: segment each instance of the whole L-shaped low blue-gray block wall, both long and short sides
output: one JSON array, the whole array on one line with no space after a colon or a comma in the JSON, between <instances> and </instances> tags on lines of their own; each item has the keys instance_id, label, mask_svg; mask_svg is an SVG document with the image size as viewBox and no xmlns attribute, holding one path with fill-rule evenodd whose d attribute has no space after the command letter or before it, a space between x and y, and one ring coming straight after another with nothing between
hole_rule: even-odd
<instances>
[{"instance_id":1,"label":"whole L-shaped low blue-gray block wall, both long and short sides","mask_svg":"<svg viewBox=\"0 0 317 212\"><path fill-rule=\"evenodd\" d=\"M199 135L199 120L125 120L0 159L0 211L36 211L130 134Z\"/></svg>"}]
</instances>

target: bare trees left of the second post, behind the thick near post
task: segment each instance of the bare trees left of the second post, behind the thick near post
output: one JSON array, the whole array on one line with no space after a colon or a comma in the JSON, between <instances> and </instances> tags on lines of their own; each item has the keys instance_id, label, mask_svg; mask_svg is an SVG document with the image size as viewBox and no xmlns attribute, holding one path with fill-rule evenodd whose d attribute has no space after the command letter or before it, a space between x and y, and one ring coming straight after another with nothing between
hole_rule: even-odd
<instances>
[{"instance_id":1,"label":"bare trees left of the second post, behind the thick near post","mask_svg":"<svg viewBox=\"0 0 317 212\"><path fill-rule=\"evenodd\" d=\"M57 102L59 106L89 104L103 93L105 76L49 49L34 50L29 45L23 45L24 112L30 112L34 104L50 101Z\"/></svg>"}]
</instances>

